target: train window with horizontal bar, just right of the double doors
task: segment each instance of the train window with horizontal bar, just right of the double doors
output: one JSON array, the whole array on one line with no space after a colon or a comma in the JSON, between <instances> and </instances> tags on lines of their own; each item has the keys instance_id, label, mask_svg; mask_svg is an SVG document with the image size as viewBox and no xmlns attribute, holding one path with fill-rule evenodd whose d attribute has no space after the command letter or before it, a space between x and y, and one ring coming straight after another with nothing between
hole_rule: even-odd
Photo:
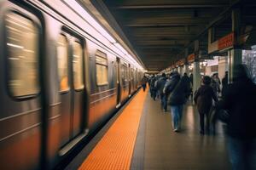
<instances>
[{"instance_id":1,"label":"train window with horizontal bar, just right of the double doors","mask_svg":"<svg viewBox=\"0 0 256 170\"><path fill-rule=\"evenodd\" d=\"M96 83L98 86L108 84L108 59L107 54L96 51Z\"/></svg>"}]
</instances>

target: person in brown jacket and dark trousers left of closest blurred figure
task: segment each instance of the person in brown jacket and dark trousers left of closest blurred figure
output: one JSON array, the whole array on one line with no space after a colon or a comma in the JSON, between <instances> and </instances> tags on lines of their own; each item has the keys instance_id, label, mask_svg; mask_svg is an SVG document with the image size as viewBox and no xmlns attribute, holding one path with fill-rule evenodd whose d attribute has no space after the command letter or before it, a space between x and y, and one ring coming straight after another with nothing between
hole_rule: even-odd
<instances>
[{"instance_id":1,"label":"person in brown jacket and dark trousers left of closest blurred figure","mask_svg":"<svg viewBox=\"0 0 256 170\"><path fill-rule=\"evenodd\" d=\"M210 110L212 107L212 99L214 99L215 102L218 101L218 98L216 94L213 91L213 88L210 86L211 84L211 77L203 77L202 79L202 85L197 90L197 93L195 94L195 104L197 106L197 110L200 115L200 133L205 133L205 116L207 116L207 133L210 132ZM215 129L215 128L214 128Z\"/></svg>"}]
</instances>

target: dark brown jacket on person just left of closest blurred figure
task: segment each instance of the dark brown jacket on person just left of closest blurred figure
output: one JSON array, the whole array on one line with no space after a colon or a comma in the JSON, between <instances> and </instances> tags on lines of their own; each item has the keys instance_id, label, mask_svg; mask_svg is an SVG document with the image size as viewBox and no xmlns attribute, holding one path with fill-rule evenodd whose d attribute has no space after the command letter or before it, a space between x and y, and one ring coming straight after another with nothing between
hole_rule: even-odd
<instances>
[{"instance_id":1,"label":"dark brown jacket on person just left of closest blurred figure","mask_svg":"<svg viewBox=\"0 0 256 170\"><path fill-rule=\"evenodd\" d=\"M212 107L212 99L214 99L215 102L218 101L212 87L210 85L201 85L194 97L198 112L208 114Z\"/></svg>"}]
</instances>

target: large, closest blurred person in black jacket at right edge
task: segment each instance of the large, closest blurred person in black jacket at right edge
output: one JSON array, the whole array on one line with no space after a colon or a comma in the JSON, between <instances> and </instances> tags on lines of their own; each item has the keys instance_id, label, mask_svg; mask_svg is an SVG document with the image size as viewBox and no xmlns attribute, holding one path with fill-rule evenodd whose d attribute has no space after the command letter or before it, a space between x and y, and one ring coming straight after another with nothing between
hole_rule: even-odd
<instances>
[{"instance_id":1,"label":"large, closest blurred person in black jacket at right edge","mask_svg":"<svg viewBox=\"0 0 256 170\"><path fill-rule=\"evenodd\" d=\"M245 65L236 65L218 109L229 113L228 150L233 170L256 169L256 85Z\"/></svg>"}]
</instances>

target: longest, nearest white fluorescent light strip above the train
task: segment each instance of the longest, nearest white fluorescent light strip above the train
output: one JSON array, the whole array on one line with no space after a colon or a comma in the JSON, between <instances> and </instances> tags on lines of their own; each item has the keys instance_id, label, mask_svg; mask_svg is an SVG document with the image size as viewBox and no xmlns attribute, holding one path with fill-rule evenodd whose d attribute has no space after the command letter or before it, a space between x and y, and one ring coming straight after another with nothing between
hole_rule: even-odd
<instances>
[{"instance_id":1,"label":"longest, nearest white fluorescent light strip above the train","mask_svg":"<svg viewBox=\"0 0 256 170\"><path fill-rule=\"evenodd\" d=\"M70 8L73 8L77 13L80 14L81 17L84 18L84 20L88 21L90 26L93 26L96 31L102 34L103 37L106 37L109 42L116 42L115 39L108 34L108 31L106 31L89 13L87 13L86 10L84 10L83 7L79 3L77 3L75 0L64 0L65 3L69 5Z\"/></svg>"}]
</instances>

